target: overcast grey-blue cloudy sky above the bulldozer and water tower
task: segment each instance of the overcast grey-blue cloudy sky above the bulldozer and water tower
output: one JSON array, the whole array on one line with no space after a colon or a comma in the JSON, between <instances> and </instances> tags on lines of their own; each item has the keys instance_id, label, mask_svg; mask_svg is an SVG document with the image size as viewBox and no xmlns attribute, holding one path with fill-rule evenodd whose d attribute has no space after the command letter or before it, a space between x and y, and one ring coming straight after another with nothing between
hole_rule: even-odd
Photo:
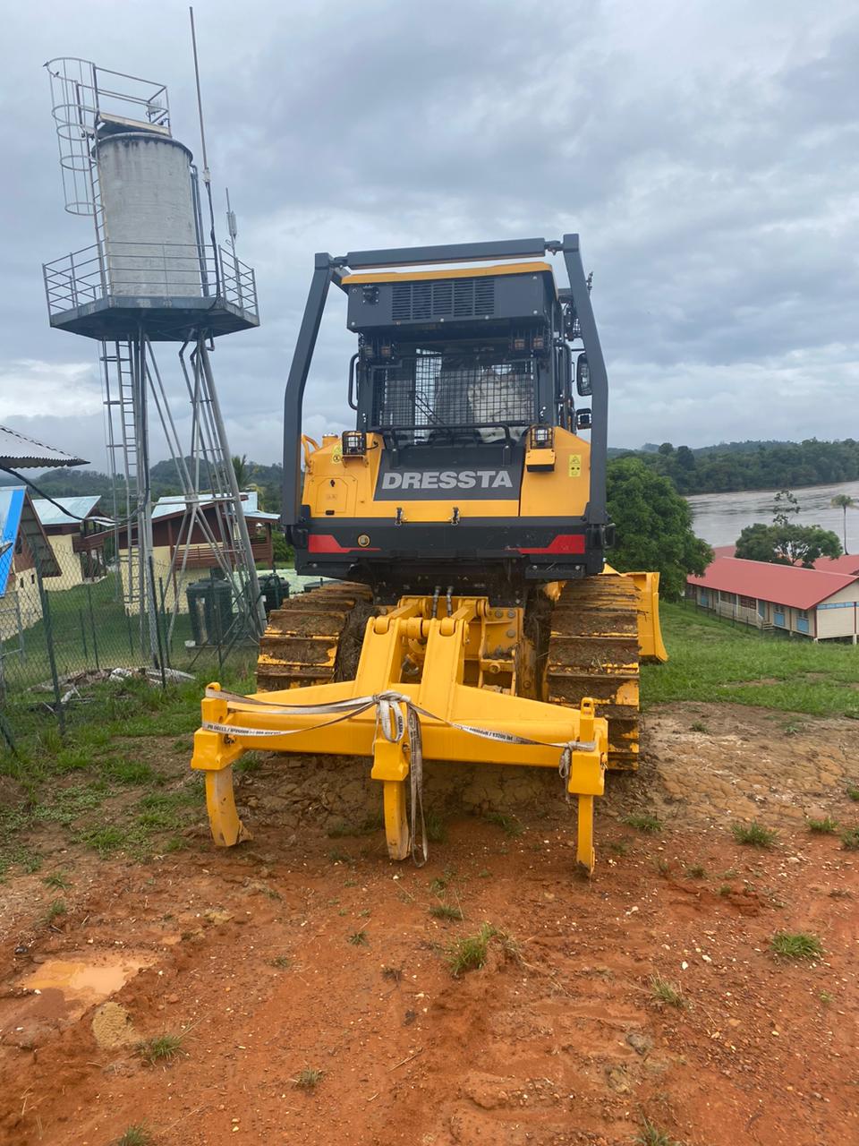
<instances>
[{"instance_id":1,"label":"overcast grey-blue cloudy sky above the bulldozer and water tower","mask_svg":"<svg viewBox=\"0 0 859 1146\"><path fill-rule=\"evenodd\" d=\"M262 315L214 356L234 453L281 460L315 251L568 230L593 270L610 444L859 437L856 0L195 13L221 234L229 186ZM166 83L198 154L188 9L29 0L6 7L0 50L0 422L104 468L97 344L50 330L44 301L42 261L93 236L63 211L41 65ZM348 425L344 304L323 324L310 433ZM172 376L168 346L160 362Z\"/></svg>"}]
</instances>

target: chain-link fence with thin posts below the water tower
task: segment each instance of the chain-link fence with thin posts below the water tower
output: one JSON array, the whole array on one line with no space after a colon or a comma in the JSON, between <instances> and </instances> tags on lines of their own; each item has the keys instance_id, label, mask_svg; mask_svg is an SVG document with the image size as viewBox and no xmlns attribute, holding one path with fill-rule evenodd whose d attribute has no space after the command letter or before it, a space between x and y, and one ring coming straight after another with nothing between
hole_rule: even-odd
<instances>
[{"instance_id":1,"label":"chain-link fence with thin posts below the water tower","mask_svg":"<svg viewBox=\"0 0 859 1146\"><path fill-rule=\"evenodd\" d=\"M33 714L55 720L62 731L81 691L100 681L145 675L153 688L166 688L253 672L258 642L229 581L206 568L178 576L156 562L158 607L150 615L120 565L94 563L79 549L69 535L50 539L50 551L25 543L6 555L0 739L7 745ZM259 578L267 612L305 581L290 570L260 571Z\"/></svg>"}]
</instances>

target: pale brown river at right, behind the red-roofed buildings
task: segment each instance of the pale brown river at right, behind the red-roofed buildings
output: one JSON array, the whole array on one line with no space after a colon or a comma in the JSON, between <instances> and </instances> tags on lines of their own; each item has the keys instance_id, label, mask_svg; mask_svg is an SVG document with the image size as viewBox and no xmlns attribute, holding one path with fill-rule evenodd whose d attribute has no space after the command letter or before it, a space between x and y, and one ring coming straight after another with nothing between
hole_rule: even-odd
<instances>
[{"instance_id":1,"label":"pale brown river at right, behind the red-roofed buildings","mask_svg":"<svg viewBox=\"0 0 859 1146\"><path fill-rule=\"evenodd\" d=\"M769 525L773 516L777 489L746 489L735 494L696 494L687 497L692 507L693 528L699 537L711 545L732 545L747 525L763 521ZM843 510L829 503L836 494L849 494L859 502L859 481L843 481L834 486L805 486L793 489L799 512L793 518L797 525L822 525L837 533L842 544ZM859 552L859 509L848 510L848 551Z\"/></svg>"}]
</instances>

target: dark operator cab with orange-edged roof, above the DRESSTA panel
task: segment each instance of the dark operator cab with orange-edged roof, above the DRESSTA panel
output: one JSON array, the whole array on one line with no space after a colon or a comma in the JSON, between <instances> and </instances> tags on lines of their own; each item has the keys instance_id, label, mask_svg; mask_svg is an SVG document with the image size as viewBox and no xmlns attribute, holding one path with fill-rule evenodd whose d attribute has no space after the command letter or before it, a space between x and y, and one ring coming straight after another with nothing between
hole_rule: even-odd
<instances>
[{"instance_id":1,"label":"dark operator cab with orange-edged roof, above the DRESSTA panel","mask_svg":"<svg viewBox=\"0 0 859 1146\"><path fill-rule=\"evenodd\" d=\"M350 405L357 429L383 434L387 449L510 454L530 426L574 427L549 264L348 275L342 285L358 333Z\"/></svg>"}]
</instances>

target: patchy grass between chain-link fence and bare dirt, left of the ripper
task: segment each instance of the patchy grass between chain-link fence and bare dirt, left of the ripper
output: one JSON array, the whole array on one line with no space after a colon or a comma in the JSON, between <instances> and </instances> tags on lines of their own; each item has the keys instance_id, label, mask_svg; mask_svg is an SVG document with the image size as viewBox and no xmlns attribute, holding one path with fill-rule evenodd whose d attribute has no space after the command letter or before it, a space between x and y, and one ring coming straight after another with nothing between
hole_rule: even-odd
<instances>
[{"instance_id":1,"label":"patchy grass between chain-link fence and bare dirt, left of the ripper","mask_svg":"<svg viewBox=\"0 0 859 1146\"><path fill-rule=\"evenodd\" d=\"M61 673L73 667L61 659ZM8 693L5 715L18 755L0 747L0 776L15 780L21 795L0 807L0 878L13 865L38 870L45 825L61 830L64 846L84 845L105 857L121 850L144 862L186 846L183 830L205 815L200 777L188 769L188 733L199 721L211 675L211 668L198 667L205 677L166 690L137 677L84 688L66 712L65 738L50 714L33 709L32 696ZM226 688L251 690L251 680L229 666L221 678ZM147 741L156 737L166 743L152 751ZM65 890L46 879L47 887Z\"/></svg>"}]
</instances>

